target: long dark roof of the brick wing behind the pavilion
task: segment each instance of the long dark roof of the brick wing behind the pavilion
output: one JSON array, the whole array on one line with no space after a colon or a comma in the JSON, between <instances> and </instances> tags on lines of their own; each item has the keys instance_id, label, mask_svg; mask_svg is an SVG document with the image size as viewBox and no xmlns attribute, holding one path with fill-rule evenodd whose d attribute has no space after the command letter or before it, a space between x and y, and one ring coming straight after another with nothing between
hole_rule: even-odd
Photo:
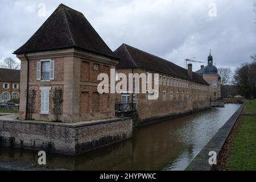
<instances>
[{"instance_id":1,"label":"long dark roof of the brick wing behind the pavilion","mask_svg":"<svg viewBox=\"0 0 256 182\"><path fill-rule=\"evenodd\" d=\"M117 69L121 68L142 68L153 72L163 73L175 77L191 80L188 70L178 65L164 60L158 56L141 51L137 48L122 44L114 53L121 59L117 65ZM193 72L192 81L209 85L200 75Z\"/></svg>"}]
</instances>

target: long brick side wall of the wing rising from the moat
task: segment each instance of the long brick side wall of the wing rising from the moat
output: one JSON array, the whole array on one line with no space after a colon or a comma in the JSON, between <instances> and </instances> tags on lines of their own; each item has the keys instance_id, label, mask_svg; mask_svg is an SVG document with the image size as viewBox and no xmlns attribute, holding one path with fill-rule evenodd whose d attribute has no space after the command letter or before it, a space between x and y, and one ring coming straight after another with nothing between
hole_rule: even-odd
<instances>
[{"instance_id":1,"label":"long brick side wall of the wing rising from the moat","mask_svg":"<svg viewBox=\"0 0 256 182\"><path fill-rule=\"evenodd\" d=\"M152 73L150 71L145 71L142 69L117 69L118 73ZM148 119L158 119L164 118L171 115L191 113L191 111L206 109L210 107L209 102L209 91L208 86L197 84L189 80L187 86L174 86L170 84L170 77L168 75L159 74L159 76L169 77L169 82L163 84L163 80L159 80L159 97L158 100L146 100L146 94L130 94L130 100L133 98L133 101L137 104L137 113L138 118L141 122ZM172 77L175 78L175 77ZM181 79L182 78L175 78ZM140 87L141 87L140 82ZM154 85L154 82L153 82ZM192 86L193 85L193 86ZM140 90L142 90L140 88ZM166 100L163 100L163 93L166 92ZM171 100L171 92L173 93L173 100ZM179 98L176 100L176 93L179 92ZM184 94L184 100L182 99L182 93ZM187 99L188 93L188 99ZM115 102L118 104L121 102L121 94L116 94Z\"/></svg>"}]
</instances>

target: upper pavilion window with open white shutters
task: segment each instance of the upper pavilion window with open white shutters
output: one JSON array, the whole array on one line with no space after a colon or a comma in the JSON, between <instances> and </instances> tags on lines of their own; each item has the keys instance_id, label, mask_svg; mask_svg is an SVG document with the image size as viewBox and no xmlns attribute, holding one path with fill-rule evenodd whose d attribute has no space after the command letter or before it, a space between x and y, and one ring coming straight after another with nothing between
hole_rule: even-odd
<instances>
[{"instance_id":1,"label":"upper pavilion window with open white shutters","mask_svg":"<svg viewBox=\"0 0 256 182\"><path fill-rule=\"evenodd\" d=\"M54 80L55 62L50 59L38 61L36 64L36 80Z\"/></svg>"}]
</instances>

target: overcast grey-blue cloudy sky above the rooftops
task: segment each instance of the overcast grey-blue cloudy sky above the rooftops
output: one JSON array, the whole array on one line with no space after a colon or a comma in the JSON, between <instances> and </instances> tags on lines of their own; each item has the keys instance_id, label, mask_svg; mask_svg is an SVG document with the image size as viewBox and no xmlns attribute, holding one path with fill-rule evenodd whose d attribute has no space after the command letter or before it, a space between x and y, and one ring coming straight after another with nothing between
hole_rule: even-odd
<instances>
[{"instance_id":1,"label":"overcast grey-blue cloudy sky above the rooftops","mask_svg":"<svg viewBox=\"0 0 256 182\"><path fill-rule=\"evenodd\" d=\"M184 59L236 68L256 53L255 0L1 0L0 60L13 56L60 3L80 11L114 51L122 43L184 67ZM43 3L43 4L42 4ZM46 15L42 5L46 5ZM215 11L216 10L216 11ZM193 70L200 68L193 63Z\"/></svg>"}]
</instances>

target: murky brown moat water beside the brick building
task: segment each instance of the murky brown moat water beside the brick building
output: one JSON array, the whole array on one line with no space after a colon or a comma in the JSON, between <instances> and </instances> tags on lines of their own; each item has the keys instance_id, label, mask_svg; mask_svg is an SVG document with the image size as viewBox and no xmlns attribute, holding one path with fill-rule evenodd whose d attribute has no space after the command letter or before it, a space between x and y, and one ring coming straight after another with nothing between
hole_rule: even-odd
<instances>
[{"instance_id":1,"label":"murky brown moat water beside the brick building","mask_svg":"<svg viewBox=\"0 0 256 182\"><path fill-rule=\"evenodd\" d=\"M47 154L47 166L73 170L184 170L240 107L188 115L134 129L133 138L79 156ZM0 161L37 164L38 152L0 147Z\"/></svg>"}]
</instances>

